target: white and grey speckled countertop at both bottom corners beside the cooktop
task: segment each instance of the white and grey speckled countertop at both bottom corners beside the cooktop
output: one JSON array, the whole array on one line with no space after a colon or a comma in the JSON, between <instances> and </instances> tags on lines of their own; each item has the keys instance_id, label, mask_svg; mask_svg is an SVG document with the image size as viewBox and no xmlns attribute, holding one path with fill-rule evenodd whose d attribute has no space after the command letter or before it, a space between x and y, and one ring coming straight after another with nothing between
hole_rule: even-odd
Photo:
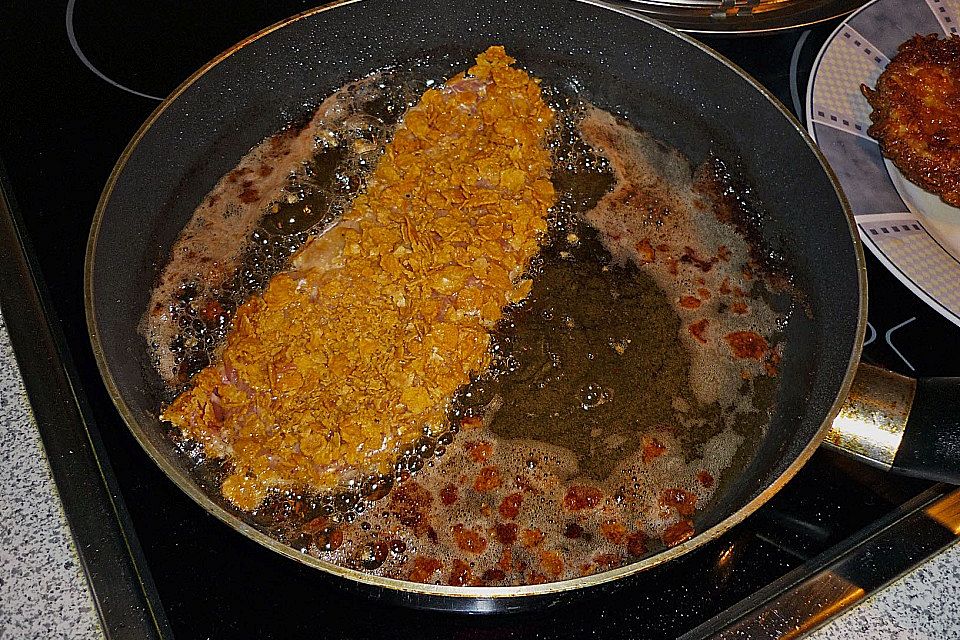
<instances>
[{"instance_id":1,"label":"white and grey speckled countertop at both bottom corners beside the cooktop","mask_svg":"<svg viewBox=\"0 0 960 640\"><path fill-rule=\"evenodd\" d=\"M0 315L0 640L102 638ZM809 636L960 639L960 545Z\"/></svg>"}]
</instances>

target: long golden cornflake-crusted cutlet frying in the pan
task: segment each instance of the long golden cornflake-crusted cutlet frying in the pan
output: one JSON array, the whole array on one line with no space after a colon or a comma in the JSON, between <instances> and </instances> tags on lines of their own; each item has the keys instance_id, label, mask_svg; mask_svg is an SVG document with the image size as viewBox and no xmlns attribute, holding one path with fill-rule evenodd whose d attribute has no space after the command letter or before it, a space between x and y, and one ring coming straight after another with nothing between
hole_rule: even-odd
<instances>
[{"instance_id":1,"label":"long golden cornflake-crusted cutlet frying in the pan","mask_svg":"<svg viewBox=\"0 0 960 640\"><path fill-rule=\"evenodd\" d=\"M163 412L230 464L222 493L384 473L489 365L489 330L555 201L539 83L490 47L410 109L366 193L237 311L218 363Z\"/></svg>"}]
</instances>

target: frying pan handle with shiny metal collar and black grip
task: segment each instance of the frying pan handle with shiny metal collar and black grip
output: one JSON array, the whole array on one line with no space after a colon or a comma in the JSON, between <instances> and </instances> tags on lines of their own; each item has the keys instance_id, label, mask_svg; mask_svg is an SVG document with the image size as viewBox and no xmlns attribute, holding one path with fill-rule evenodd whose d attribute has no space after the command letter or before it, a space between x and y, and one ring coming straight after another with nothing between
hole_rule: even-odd
<instances>
[{"instance_id":1,"label":"frying pan handle with shiny metal collar and black grip","mask_svg":"<svg viewBox=\"0 0 960 640\"><path fill-rule=\"evenodd\" d=\"M860 363L824 444L882 469L960 484L960 378Z\"/></svg>"}]
</instances>

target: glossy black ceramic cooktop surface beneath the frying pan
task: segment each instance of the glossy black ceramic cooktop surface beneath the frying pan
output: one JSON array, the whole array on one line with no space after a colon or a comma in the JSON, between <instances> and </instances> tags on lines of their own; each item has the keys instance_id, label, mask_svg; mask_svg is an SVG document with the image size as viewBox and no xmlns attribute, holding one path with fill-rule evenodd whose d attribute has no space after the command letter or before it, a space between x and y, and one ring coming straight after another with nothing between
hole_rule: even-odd
<instances>
[{"instance_id":1,"label":"glossy black ceramic cooktop surface beneath the frying pan","mask_svg":"<svg viewBox=\"0 0 960 640\"><path fill-rule=\"evenodd\" d=\"M129 517L142 549L135 562L143 588L159 602L162 632L180 638L675 637L703 623L709 627L728 607L930 486L820 451L745 523L613 594L560 611L469 618L373 605L207 515L145 456L100 381L83 311L86 237L113 163L159 98L236 41L306 8L309 3L295 0L70 0L2 9L5 187L37 279L49 293L54 327L57 321L62 327L63 355L76 367L79 393L89 402L90 428L102 439L107 473L112 469L126 505L122 519ZM707 42L791 107L801 104L813 58L833 26ZM910 375L960 375L960 330L867 259L865 359ZM74 505L81 513L82 502Z\"/></svg>"}]
</instances>

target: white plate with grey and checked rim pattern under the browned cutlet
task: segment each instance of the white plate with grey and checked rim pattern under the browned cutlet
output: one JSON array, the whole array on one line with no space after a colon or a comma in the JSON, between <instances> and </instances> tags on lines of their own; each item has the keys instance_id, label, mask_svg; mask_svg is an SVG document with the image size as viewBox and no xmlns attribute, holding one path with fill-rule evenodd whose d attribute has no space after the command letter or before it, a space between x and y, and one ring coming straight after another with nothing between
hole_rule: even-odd
<instances>
[{"instance_id":1,"label":"white plate with grey and checked rim pattern under the browned cutlet","mask_svg":"<svg viewBox=\"0 0 960 640\"><path fill-rule=\"evenodd\" d=\"M903 177L867 135L876 85L914 34L957 34L960 0L874 0L848 17L817 56L807 126L837 173L860 237L927 304L960 325L960 209Z\"/></svg>"}]
</instances>

